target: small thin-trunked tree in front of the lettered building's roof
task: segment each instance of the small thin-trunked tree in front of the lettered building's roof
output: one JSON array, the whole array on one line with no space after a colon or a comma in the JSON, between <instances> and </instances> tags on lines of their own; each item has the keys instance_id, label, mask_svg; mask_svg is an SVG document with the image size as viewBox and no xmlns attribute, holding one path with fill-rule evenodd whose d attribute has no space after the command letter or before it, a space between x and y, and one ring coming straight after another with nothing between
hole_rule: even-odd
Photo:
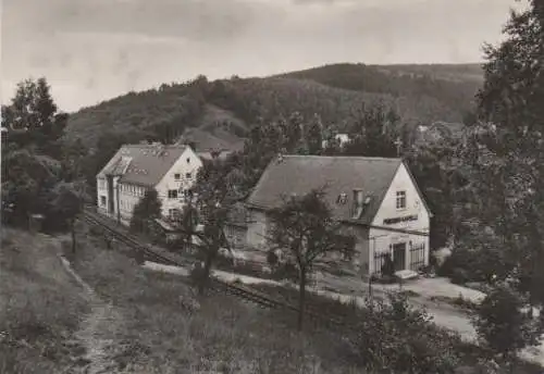
<instances>
[{"instance_id":1,"label":"small thin-trunked tree in front of the lettered building's roof","mask_svg":"<svg viewBox=\"0 0 544 374\"><path fill-rule=\"evenodd\" d=\"M323 200L323 191L312 190L301 197L290 197L280 208L271 211L268 234L272 251L281 250L298 267L298 328L302 328L306 285L316 260L332 253L350 255L353 237L341 234L341 227Z\"/></svg>"}]
</instances>

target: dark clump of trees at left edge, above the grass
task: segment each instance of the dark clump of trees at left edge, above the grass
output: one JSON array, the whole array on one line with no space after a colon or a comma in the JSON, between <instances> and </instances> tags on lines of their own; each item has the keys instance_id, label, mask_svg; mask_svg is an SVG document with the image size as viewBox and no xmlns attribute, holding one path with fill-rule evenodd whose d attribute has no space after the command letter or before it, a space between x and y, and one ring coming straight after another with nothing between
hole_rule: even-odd
<instances>
[{"instance_id":1,"label":"dark clump of trees at left edge, above the grass","mask_svg":"<svg viewBox=\"0 0 544 374\"><path fill-rule=\"evenodd\" d=\"M58 111L45 78L20 83L11 103L2 105L4 224L27 226L30 215L41 214L44 229L74 233L85 187L73 173L74 150L60 141L66 117Z\"/></svg>"}]
</instances>

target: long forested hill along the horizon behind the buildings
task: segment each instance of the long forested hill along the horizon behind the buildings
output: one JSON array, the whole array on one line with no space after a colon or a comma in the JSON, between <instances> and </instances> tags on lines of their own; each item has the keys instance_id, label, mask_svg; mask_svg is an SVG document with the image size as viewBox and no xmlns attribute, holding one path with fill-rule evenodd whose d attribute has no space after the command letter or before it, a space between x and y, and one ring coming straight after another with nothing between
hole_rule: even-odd
<instances>
[{"instance_id":1,"label":"long forested hill along the horizon behind the buildings","mask_svg":"<svg viewBox=\"0 0 544 374\"><path fill-rule=\"evenodd\" d=\"M172 142L195 134L201 148L238 148L250 125L318 113L325 126L342 129L362 102L383 102L403 122L460 122L481 84L478 65L335 64L264 78L163 84L131 92L71 115L66 139L94 147L100 137L123 134ZM189 132L187 133L187 130ZM209 136L208 136L209 135ZM127 140L127 141L128 141Z\"/></svg>"}]
</instances>

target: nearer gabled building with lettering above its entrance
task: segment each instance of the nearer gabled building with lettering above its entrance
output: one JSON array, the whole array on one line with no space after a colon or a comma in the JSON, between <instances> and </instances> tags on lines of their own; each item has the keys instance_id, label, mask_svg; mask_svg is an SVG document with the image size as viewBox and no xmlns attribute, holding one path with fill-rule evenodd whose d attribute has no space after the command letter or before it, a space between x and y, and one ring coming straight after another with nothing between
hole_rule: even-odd
<instances>
[{"instance_id":1,"label":"nearer gabled building with lettering above its entrance","mask_svg":"<svg viewBox=\"0 0 544 374\"><path fill-rule=\"evenodd\" d=\"M246 201L247 245L264 249L267 212L317 188L357 238L354 264L362 274L380 273L387 253L396 271L429 264L431 212L401 159L279 155Z\"/></svg>"}]
</instances>

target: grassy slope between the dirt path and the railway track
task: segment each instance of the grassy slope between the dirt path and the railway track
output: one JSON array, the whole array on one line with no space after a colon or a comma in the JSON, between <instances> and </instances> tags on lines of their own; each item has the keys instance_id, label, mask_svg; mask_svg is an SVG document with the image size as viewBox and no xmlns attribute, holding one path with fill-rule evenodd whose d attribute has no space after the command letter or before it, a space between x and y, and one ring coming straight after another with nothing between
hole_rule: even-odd
<instances>
[{"instance_id":1,"label":"grassy slope between the dirt path and the railway track","mask_svg":"<svg viewBox=\"0 0 544 374\"><path fill-rule=\"evenodd\" d=\"M199 300L180 277L138 267L88 236L75 269L124 315L112 357L129 373L361 373L342 360L339 337L298 336L292 314L262 310L225 295ZM364 372L362 372L364 373Z\"/></svg>"}]
</instances>

